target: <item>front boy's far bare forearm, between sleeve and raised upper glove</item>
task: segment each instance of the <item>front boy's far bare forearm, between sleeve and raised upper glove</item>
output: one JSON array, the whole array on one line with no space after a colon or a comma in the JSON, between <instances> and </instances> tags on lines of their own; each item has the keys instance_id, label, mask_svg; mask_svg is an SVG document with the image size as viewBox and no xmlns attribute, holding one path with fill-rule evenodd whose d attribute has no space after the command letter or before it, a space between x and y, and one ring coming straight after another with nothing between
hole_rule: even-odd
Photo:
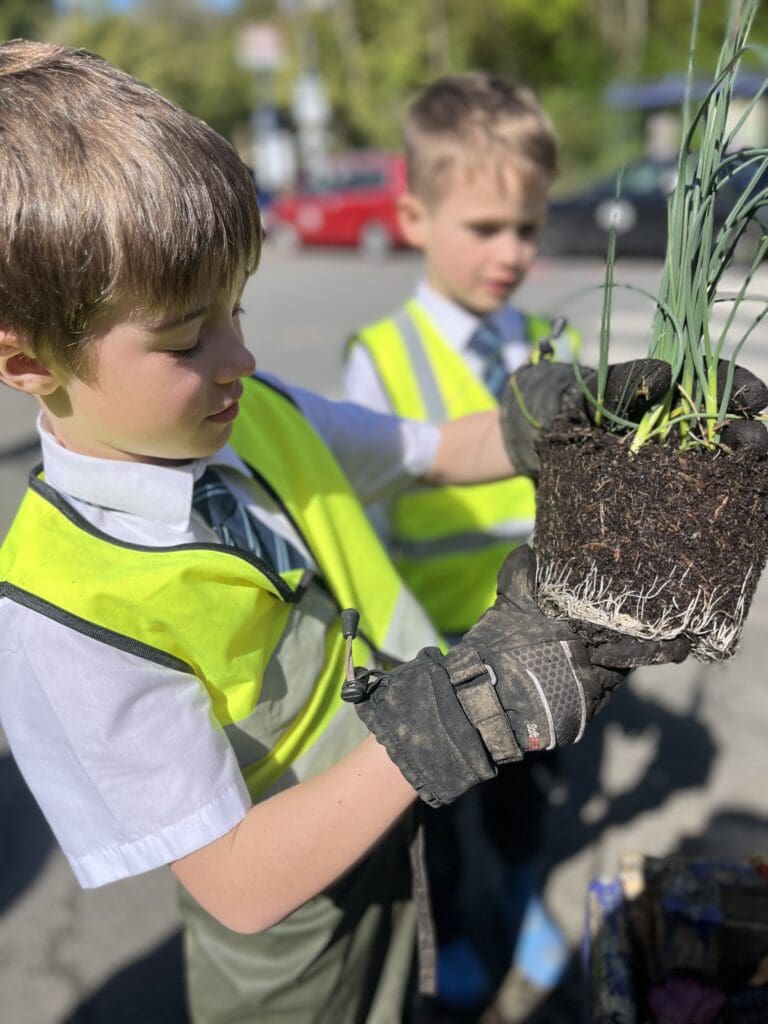
<instances>
[{"instance_id":1,"label":"front boy's far bare forearm, between sleeve and raised upper glove","mask_svg":"<svg viewBox=\"0 0 768 1024\"><path fill-rule=\"evenodd\" d=\"M440 424L440 443L424 474L426 483L487 483L513 476L499 423L499 411L473 413Z\"/></svg>"}]
</instances>

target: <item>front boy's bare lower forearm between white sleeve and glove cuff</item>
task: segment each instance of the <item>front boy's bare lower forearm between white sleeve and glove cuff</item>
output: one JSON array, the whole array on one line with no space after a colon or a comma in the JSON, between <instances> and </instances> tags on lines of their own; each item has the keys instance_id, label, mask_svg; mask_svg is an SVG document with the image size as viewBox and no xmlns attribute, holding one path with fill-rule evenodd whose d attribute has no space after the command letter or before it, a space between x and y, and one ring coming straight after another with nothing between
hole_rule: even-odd
<instances>
[{"instance_id":1,"label":"front boy's bare lower forearm between white sleeve and glove cuff","mask_svg":"<svg viewBox=\"0 0 768 1024\"><path fill-rule=\"evenodd\" d=\"M231 831L172 868L225 927L261 932L365 856L415 799L369 737L322 775L254 805Z\"/></svg>"}]
</instances>

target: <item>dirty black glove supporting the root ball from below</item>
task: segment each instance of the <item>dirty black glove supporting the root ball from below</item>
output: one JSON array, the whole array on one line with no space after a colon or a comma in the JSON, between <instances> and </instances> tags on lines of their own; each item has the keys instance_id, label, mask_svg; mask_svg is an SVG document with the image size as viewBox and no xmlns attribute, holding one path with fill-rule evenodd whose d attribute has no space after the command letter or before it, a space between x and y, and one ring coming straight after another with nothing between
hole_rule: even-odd
<instances>
[{"instance_id":1,"label":"dirty black glove supporting the root ball from below","mask_svg":"<svg viewBox=\"0 0 768 1024\"><path fill-rule=\"evenodd\" d=\"M580 739L631 668L681 662L686 640L588 648L534 600L536 556L516 548L493 607L447 654L436 647L374 673L357 714L426 803L437 807L529 751Z\"/></svg>"}]
</instances>

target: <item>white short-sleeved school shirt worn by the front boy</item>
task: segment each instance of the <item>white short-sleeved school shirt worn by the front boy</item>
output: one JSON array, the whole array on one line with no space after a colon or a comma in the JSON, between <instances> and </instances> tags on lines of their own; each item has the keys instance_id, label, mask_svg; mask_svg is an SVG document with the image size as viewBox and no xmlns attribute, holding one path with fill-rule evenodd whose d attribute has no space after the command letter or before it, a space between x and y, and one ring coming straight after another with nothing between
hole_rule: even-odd
<instances>
[{"instance_id":1,"label":"white short-sleeved school shirt worn by the front boy","mask_svg":"<svg viewBox=\"0 0 768 1024\"><path fill-rule=\"evenodd\" d=\"M406 485L434 459L439 432L431 425L280 387L329 444L364 502ZM308 555L228 445L210 459L154 466L68 452L42 424L39 430L46 481L118 540L163 547L217 543L191 510L194 482L213 465L254 515ZM229 831L251 806L208 694L188 674L11 600L0 601L0 723L83 887L198 850Z\"/></svg>"}]
</instances>

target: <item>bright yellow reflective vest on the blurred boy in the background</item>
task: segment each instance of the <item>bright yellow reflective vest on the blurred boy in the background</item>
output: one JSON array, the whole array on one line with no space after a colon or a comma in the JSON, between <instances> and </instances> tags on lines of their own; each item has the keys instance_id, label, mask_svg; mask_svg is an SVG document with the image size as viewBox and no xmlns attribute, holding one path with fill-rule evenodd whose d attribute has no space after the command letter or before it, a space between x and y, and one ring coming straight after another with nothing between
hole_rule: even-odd
<instances>
[{"instance_id":1,"label":"bright yellow reflective vest on the blurred boy in the background","mask_svg":"<svg viewBox=\"0 0 768 1024\"><path fill-rule=\"evenodd\" d=\"M537 361L552 322L530 315L525 321ZM416 300L364 328L349 346L354 344L366 347L398 416L441 423L497 408ZM553 342L554 358L570 361L579 344L577 332L566 330ZM516 477L472 486L416 486L393 501L392 558L441 632L466 632L493 603L504 558L534 527L535 494L530 480Z\"/></svg>"}]
</instances>

